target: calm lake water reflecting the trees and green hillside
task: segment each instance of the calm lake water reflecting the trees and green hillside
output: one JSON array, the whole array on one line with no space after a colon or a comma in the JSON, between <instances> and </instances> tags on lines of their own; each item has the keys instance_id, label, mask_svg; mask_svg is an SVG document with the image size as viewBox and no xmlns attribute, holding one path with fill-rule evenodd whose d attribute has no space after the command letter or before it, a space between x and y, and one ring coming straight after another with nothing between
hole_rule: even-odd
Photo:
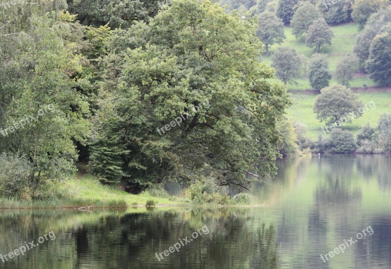
<instances>
[{"instance_id":1,"label":"calm lake water reflecting the trees and green hillside","mask_svg":"<svg viewBox=\"0 0 391 269\"><path fill-rule=\"evenodd\" d=\"M0 269L391 269L390 157L322 156L278 167L272 186L252 189L263 207L0 211L2 255L43 242L0 259ZM323 262L321 254L351 237L357 242ZM170 253L174 244L179 252Z\"/></svg>"}]
</instances>

